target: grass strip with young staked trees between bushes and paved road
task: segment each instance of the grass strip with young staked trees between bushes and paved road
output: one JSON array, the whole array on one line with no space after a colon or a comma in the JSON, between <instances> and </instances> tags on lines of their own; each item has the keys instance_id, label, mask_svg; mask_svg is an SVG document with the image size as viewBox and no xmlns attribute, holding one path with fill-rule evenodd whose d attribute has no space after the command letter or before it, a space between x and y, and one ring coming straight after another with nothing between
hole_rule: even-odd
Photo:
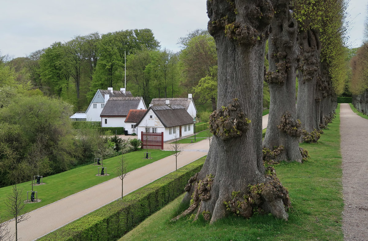
<instances>
[{"instance_id":1,"label":"grass strip with young staked trees between bushes and paved road","mask_svg":"<svg viewBox=\"0 0 368 241\"><path fill-rule=\"evenodd\" d=\"M138 151L124 154L125 159L128 162L128 171L135 170L172 154L170 151L148 151L151 152L152 159L143 159L146 149L139 149ZM38 198L42 199L42 201L27 204L25 206L26 211L29 212L35 210L72 194L78 193L79 191L85 190L86 188L93 187L99 183L117 177L117 175L113 173L113 169L116 167L119 158L121 158L121 155L103 160L103 166L107 168L107 173L110 174L109 176L95 176L98 172L98 167L100 166L91 164L43 178L43 182L46 184L33 186L33 191L38 192ZM31 191L31 181L21 183L19 186L20 188L23 188L23 198L26 200L27 191ZM5 211L4 200L11 188L11 186L0 188L0 216L8 216Z\"/></svg>"}]
</instances>

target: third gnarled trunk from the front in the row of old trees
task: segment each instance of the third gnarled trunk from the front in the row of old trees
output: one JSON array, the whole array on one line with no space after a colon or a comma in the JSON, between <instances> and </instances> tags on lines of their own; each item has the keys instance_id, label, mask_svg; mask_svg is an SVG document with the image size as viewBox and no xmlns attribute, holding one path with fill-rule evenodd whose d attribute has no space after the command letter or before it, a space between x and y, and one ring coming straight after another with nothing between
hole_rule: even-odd
<instances>
[{"instance_id":1,"label":"third gnarled trunk from the front in the row of old trees","mask_svg":"<svg viewBox=\"0 0 368 241\"><path fill-rule=\"evenodd\" d=\"M302 129L311 133L316 129L315 123L315 88L318 78L321 42L318 34L312 30L301 30L298 35L301 48L301 65L298 68L297 118ZM300 137L300 141L303 135Z\"/></svg>"}]
</instances>

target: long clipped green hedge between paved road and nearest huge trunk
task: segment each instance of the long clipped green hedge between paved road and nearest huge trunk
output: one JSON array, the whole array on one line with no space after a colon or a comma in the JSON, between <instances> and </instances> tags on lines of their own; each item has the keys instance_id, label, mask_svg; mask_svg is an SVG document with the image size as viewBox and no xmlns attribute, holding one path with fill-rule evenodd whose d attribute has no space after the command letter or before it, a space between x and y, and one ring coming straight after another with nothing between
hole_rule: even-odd
<instances>
[{"instance_id":1,"label":"long clipped green hedge between paved road and nearest huge trunk","mask_svg":"<svg viewBox=\"0 0 368 241\"><path fill-rule=\"evenodd\" d=\"M201 170L203 163L204 158L198 159L39 240L117 240L182 194L190 177Z\"/></svg>"}]
</instances>

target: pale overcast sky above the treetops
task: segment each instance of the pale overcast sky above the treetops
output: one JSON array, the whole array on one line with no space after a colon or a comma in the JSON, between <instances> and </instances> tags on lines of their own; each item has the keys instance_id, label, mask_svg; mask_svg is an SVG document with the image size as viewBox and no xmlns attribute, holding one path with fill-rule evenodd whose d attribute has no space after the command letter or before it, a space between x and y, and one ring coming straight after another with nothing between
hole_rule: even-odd
<instances>
[{"instance_id":1,"label":"pale overcast sky above the treetops","mask_svg":"<svg viewBox=\"0 0 368 241\"><path fill-rule=\"evenodd\" d=\"M179 51L178 38L206 29L206 0L1 0L0 54L24 57L67 42L75 35L126 29L152 29L161 47ZM368 0L351 0L352 47L362 42Z\"/></svg>"}]
</instances>

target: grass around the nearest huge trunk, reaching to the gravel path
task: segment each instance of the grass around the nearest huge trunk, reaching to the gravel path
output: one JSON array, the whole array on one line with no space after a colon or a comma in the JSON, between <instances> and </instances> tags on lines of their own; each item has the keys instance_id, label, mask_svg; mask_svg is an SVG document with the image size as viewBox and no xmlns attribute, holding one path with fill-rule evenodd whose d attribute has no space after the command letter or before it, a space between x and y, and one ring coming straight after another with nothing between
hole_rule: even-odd
<instances>
[{"instance_id":1,"label":"grass around the nearest huge trunk, reaching to the gravel path","mask_svg":"<svg viewBox=\"0 0 368 241\"><path fill-rule=\"evenodd\" d=\"M183 210L179 197L121 240L343 240L339 109L336 112L318 143L301 144L311 155L308 161L275 166L289 189L289 221L255 215L229 216L212 225L202 217L194 223L186 218L172 223L170 219Z\"/></svg>"}]
</instances>

